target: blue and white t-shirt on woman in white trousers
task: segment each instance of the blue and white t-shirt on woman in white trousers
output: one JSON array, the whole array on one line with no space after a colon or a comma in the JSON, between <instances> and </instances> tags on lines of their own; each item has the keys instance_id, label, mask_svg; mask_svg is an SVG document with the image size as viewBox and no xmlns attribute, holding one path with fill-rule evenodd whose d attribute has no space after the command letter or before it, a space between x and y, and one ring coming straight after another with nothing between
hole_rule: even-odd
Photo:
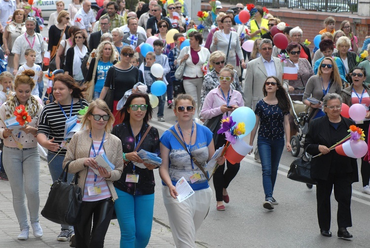
<instances>
[{"instance_id":1,"label":"blue and white t-shirt on woman in white trousers","mask_svg":"<svg viewBox=\"0 0 370 248\"><path fill-rule=\"evenodd\" d=\"M175 126L170 127L170 129L177 133ZM169 130L163 133L160 142L170 150L168 172L174 186L176 186L177 181L184 176L193 190L201 190L209 187L207 178L203 172L195 164L193 164L194 168L192 167L190 155L184 150L184 147ZM196 124L196 141L195 144L190 147L190 153L202 167L206 165L208 160L208 145L211 142L211 130L206 126ZM196 172L200 174L201 179L191 183L189 177ZM162 184L165 185L163 181Z\"/></svg>"}]
</instances>

